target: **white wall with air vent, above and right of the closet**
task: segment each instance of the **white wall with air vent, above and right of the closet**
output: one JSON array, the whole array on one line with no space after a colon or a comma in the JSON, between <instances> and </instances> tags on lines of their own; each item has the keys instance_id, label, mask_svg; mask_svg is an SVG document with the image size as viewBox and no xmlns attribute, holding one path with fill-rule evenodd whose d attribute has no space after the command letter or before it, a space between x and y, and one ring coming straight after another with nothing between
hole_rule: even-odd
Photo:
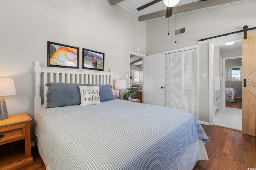
<instances>
[{"instance_id":1,"label":"white wall with air vent, above and right of the closet","mask_svg":"<svg viewBox=\"0 0 256 170\"><path fill-rule=\"evenodd\" d=\"M152 20L146 23L147 55L198 45L198 39L243 29L256 25L256 1L243 2L202 10L169 18ZM175 8L174 8L175 10ZM176 20L176 24L175 24ZM174 36L174 30L186 28L186 33ZM175 43L177 41L177 43ZM216 41L216 40L213 40ZM200 44L199 49L199 120L209 122L209 72L208 43ZM222 53L223 57L223 53Z\"/></svg>"}]
</instances>

